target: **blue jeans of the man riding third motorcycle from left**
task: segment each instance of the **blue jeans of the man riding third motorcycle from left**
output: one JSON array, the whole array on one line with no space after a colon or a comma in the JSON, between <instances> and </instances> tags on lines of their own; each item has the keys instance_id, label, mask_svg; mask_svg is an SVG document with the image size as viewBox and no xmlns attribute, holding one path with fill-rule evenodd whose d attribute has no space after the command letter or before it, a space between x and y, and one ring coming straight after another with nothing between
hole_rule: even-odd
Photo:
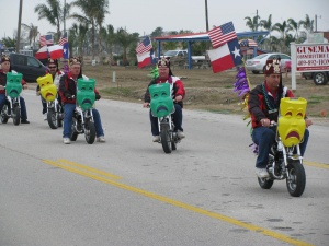
<instances>
[{"instance_id":1,"label":"blue jeans of the man riding third motorcycle from left","mask_svg":"<svg viewBox=\"0 0 329 246\"><path fill-rule=\"evenodd\" d=\"M71 126L72 126L72 117L73 117L75 109L76 109L76 104L64 105L63 138L71 137ZM100 113L93 108L92 115L93 115L97 137L104 136Z\"/></svg>"}]
</instances>

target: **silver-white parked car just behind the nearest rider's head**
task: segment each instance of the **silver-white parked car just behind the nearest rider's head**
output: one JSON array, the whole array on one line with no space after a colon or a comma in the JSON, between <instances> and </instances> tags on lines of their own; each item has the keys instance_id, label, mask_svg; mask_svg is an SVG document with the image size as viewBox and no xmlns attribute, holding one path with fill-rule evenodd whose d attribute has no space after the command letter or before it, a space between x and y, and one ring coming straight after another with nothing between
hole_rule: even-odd
<instances>
[{"instance_id":1,"label":"silver-white parked car just behind the nearest rider's head","mask_svg":"<svg viewBox=\"0 0 329 246\"><path fill-rule=\"evenodd\" d=\"M281 58L281 70L284 71L286 69L286 63L292 62L291 57L281 52L268 52L259 55L252 59L246 61L246 68L252 73L258 74L260 72L264 72L265 65L268 59Z\"/></svg>"}]
</instances>

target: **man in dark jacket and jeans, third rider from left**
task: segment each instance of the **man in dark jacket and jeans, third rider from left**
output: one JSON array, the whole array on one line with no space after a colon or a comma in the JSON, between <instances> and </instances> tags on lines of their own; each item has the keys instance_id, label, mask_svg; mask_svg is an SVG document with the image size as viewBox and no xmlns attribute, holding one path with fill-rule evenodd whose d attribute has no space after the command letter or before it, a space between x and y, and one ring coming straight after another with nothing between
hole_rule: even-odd
<instances>
[{"instance_id":1,"label":"man in dark jacket and jeans, third rider from left","mask_svg":"<svg viewBox=\"0 0 329 246\"><path fill-rule=\"evenodd\" d=\"M59 94L64 104L63 141L65 144L70 143L72 117L76 109L77 81L79 78L83 77L81 72L80 58L72 57L70 58L69 63L69 73L64 74L59 81ZM101 95L95 89L94 93L95 99L100 99ZM97 141L105 142L100 113L93 108L92 114L97 132Z\"/></svg>"}]
</instances>

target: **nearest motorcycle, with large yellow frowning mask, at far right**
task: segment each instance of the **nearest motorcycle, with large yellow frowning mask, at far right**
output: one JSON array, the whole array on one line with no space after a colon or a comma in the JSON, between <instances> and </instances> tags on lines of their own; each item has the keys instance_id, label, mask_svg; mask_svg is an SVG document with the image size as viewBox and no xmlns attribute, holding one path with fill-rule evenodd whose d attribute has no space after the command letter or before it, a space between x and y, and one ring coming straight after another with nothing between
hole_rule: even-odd
<instances>
[{"instance_id":1,"label":"nearest motorcycle, with large yellow frowning mask, at far right","mask_svg":"<svg viewBox=\"0 0 329 246\"><path fill-rule=\"evenodd\" d=\"M299 143L303 141L305 112L307 101L304 98L282 98L280 117L271 127L276 127L275 142L269 154L266 171L270 177L259 178L261 188L270 189L274 180L286 180L292 197L300 197L306 186L306 174L303 166Z\"/></svg>"}]
</instances>

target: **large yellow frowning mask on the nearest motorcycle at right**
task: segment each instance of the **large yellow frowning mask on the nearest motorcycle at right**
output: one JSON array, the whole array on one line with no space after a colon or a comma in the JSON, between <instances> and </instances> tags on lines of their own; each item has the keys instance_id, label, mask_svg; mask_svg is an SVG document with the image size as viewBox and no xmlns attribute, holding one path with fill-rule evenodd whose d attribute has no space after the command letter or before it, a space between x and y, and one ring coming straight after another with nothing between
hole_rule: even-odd
<instances>
[{"instance_id":1,"label":"large yellow frowning mask on the nearest motorcycle at right","mask_svg":"<svg viewBox=\"0 0 329 246\"><path fill-rule=\"evenodd\" d=\"M282 98L277 131L285 147L298 144L305 132L305 113L307 101L304 98Z\"/></svg>"}]
</instances>

